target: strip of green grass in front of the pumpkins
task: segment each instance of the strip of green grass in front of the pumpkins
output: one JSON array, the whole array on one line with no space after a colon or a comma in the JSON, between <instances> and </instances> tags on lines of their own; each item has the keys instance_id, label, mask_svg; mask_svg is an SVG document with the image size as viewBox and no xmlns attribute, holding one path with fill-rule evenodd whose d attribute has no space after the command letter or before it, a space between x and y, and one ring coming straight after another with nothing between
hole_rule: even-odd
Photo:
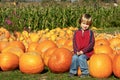
<instances>
[{"instance_id":1,"label":"strip of green grass in front of the pumpkins","mask_svg":"<svg viewBox=\"0 0 120 80\"><path fill-rule=\"evenodd\" d=\"M49 70L45 69L40 74L24 74L20 72L20 70L14 71L0 71L0 80L98 80L97 78L93 78L91 76L85 78L68 77L68 72L66 73L52 73ZM100 79L101 80L101 79ZM102 80L118 80L118 78L111 75L109 78L105 78Z\"/></svg>"}]
</instances>

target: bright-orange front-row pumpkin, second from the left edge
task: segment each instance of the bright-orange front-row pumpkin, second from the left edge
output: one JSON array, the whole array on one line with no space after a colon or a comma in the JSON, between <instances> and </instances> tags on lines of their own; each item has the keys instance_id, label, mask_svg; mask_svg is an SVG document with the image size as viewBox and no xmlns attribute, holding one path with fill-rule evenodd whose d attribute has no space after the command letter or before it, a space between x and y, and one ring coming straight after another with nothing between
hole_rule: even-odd
<instances>
[{"instance_id":1,"label":"bright-orange front-row pumpkin, second from the left edge","mask_svg":"<svg viewBox=\"0 0 120 80\"><path fill-rule=\"evenodd\" d=\"M44 63L39 53L31 51L20 57L19 69L26 74L41 73L44 70Z\"/></svg>"}]
</instances>

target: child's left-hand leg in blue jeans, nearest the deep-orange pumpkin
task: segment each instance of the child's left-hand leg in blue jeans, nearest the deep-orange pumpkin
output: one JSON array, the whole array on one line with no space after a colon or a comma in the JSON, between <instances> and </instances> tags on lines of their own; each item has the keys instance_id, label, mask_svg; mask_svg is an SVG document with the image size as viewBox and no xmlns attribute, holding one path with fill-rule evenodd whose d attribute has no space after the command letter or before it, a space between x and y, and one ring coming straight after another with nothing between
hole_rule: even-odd
<instances>
[{"instance_id":1,"label":"child's left-hand leg in blue jeans, nearest the deep-orange pumpkin","mask_svg":"<svg viewBox=\"0 0 120 80\"><path fill-rule=\"evenodd\" d=\"M74 54L72 57L72 63L70 66L69 73L77 74L77 68L78 68L78 55Z\"/></svg>"}]
</instances>

